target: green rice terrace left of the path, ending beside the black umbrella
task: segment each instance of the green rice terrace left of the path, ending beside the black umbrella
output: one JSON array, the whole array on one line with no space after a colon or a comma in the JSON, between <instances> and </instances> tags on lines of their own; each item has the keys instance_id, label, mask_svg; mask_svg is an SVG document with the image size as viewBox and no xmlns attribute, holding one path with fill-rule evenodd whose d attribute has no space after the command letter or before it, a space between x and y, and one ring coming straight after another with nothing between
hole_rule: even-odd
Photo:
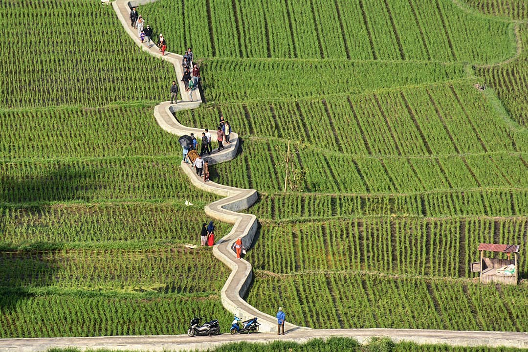
<instances>
[{"instance_id":1,"label":"green rice terrace left of the path, ending beside the black umbrella","mask_svg":"<svg viewBox=\"0 0 528 352\"><path fill-rule=\"evenodd\" d=\"M181 155L151 104L0 111L0 159Z\"/></svg>"}]
</instances>

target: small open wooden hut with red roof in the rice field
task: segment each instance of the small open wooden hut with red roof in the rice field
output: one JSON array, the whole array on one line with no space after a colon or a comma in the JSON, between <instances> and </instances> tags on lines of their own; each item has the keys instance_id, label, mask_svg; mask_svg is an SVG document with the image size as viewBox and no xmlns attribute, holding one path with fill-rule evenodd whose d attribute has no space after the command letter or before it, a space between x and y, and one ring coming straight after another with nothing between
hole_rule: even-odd
<instances>
[{"instance_id":1,"label":"small open wooden hut with red roof in the rice field","mask_svg":"<svg viewBox=\"0 0 528 352\"><path fill-rule=\"evenodd\" d=\"M471 264L472 272L480 273L480 282L502 282L516 285L519 275L517 254L520 245L480 243L480 261ZM507 259L487 258L484 252L506 253ZM513 253L513 258L512 258Z\"/></svg>"}]
</instances>

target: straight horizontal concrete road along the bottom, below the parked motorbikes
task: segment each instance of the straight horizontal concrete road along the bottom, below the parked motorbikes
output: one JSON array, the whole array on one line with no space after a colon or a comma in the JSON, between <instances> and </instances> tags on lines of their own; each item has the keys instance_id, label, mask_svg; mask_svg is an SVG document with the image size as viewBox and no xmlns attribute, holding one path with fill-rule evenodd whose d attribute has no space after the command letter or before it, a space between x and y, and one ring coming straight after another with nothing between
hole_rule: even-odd
<instances>
[{"instance_id":1,"label":"straight horizontal concrete road along the bottom, below the parked motorbikes","mask_svg":"<svg viewBox=\"0 0 528 352\"><path fill-rule=\"evenodd\" d=\"M35 352L52 347L78 347L80 349L107 348L111 350L137 351L190 351L207 350L233 341L270 343L276 340L305 343L313 338L332 336L355 338L367 343L372 337L390 337L394 342L411 341L417 344L447 344L451 346L507 346L528 348L528 334L525 332L493 331L445 331L414 329L327 329L287 331L284 336L276 334L251 334L220 336L164 335L164 336L109 336L109 337L70 337L0 339L0 351Z\"/></svg>"}]
</instances>

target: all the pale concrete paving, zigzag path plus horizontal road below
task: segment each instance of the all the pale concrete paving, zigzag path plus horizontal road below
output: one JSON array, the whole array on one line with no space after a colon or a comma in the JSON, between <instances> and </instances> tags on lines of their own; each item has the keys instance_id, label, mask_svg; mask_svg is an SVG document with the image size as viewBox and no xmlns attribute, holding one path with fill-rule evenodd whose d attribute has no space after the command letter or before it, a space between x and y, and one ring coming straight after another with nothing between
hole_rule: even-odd
<instances>
[{"instance_id":1,"label":"all the pale concrete paving, zigzag path plus horizontal road below","mask_svg":"<svg viewBox=\"0 0 528 352\"><path fill-rule=\"evenodd\" d=\"M137 1L135 4L153 2L155 0ZM137 39L136 32L129 26L128 11L130 2L117 0L112 5L118 15L120 22L127 33L149 54L159 56L163 60L172 62L175 66L176 75L181 79L183 72L180 65L181 55L167 52L165 56L154 46L148 49ZM147 19L148 20L148 19ZM180 83L180 91L183 84ZM198 92L195 92L198 93ZM175 135L200 133L201 129L182 126L173 117L173 112L184 109L194 109L200 106L201 97L195 94L198 101L185 101L177 104L163 102L155 107L154 116L159 126L167 132ZM199 136L200 136L199 135ZM215 134L213 134L213 139ZM213 153L206 157L210 164L221 163L231 160L237 153L238 135L234 134L231 144L220 153ZM205 213L211 217L232 223L231 232L216 242L213 254L225 263L232 272L222 288L222 304L231 312L238 313L242 317L257 316L262 324L261 331L274 331L276 328L275 318L260 312L244 301L241 296L245 294L252 279L251 264L245 260L236 260L231 244L242 236L244 246L249 248L257 229L257 219L252 214L236 213L251 206L257 199L257 191L254 189L241 189L223 186L214 182L204 183L203 180L193 173L193 170L182 162L182 169L191 179L191 182L204 191L222 195L225 198L205 206ZM110 336L110 337L72 337L72 338L25 338L25 339L0 339L0 351L45 351L52 347L77 347L80 349L108 348L112 350L143 350L143 351L165 351L165 350L206 350L218 347L232 341L251 341L254 343L266 343L275 340L290 340L305 342L313 338L328 338L332 336L355 338L360 343L365 343L374 336L390 337L393 341L413 341L418 344L448 344L452 346L508 346L517 348L528 348L528 333L526 332L495 332L495 331L449 331L449 330L418 330L418 329L308 329L295 325L286 326L286 335L275 334L252 334L252 335L227 335L214 337L188 337L186 335L166 336Z\"/></svg>"}]
</instances>

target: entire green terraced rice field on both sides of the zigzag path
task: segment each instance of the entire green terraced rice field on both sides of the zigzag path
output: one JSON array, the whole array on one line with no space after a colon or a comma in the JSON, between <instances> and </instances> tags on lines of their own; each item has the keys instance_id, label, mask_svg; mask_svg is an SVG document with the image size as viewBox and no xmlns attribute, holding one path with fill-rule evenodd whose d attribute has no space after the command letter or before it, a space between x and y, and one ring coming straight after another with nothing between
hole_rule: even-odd
<instances>
[{"instance_id":1,"label":"entire green terraced rice field on both sides of the zigzag path","mask_svg":"<svg viewBox=\"0 0 528 352\"><path fill-rule=\"evenodd\" d=\"M176 118L213 128L223 114L243 139L212 177L259 191L249 303L314 328L528 331L526 282L482 286L468 268L496 242L521 244L528 271L525 12L516 0L140 6L169 51L200 59L209 103ZM184 177L177 138L152 116L172 66L98 2L0 0L0 16L21 40L0 52L0 337L182 334L194 315L227 327L227 268L182 246L217 198ZM288 141L305 175L282 193Z\"/></svg>"}]
</instances>

